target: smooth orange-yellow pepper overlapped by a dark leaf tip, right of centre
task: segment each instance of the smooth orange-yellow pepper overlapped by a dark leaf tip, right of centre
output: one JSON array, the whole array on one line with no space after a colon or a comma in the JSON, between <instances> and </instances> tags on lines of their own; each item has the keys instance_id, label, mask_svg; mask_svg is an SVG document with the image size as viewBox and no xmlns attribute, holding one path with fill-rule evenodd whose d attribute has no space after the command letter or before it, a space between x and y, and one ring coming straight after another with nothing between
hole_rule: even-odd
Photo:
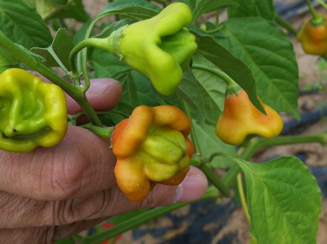
<instances>
[{"instance_id":1,"label":"smooth orange-yellow pepper overlapped by a dark leaf tip, right of centre","mask_svg":"<svg viewBox=\"0 0 327 244\"><path fill-rule=\"evenodd\" d=\"M260 135L264 138L277 136L283 128L281 117L260 99L259 101L267 115L250 102L244 90L237 95L226 96L224 111L215 128L217 136L232 145L241 144L247 136L251 135Z\"/></svg>"}]
</instances>

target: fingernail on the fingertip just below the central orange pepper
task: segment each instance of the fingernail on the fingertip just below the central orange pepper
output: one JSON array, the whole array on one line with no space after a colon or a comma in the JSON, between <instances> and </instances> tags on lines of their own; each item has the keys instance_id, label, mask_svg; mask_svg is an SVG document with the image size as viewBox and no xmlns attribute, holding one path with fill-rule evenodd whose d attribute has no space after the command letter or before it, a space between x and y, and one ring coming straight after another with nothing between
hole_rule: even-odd
<instances>
[{"instance_id":1,"label":"fingernail on the fingertip just below the central orange pepper","mask_svg":"<svg viewBox=\"0 0 327 244\"><path fill-rule=\"evenodd\" d=\"M201 198L208 187L208 181L202 175L187 176L176 189L174 203L190 202Z\"/></svg>"}]
</instances>

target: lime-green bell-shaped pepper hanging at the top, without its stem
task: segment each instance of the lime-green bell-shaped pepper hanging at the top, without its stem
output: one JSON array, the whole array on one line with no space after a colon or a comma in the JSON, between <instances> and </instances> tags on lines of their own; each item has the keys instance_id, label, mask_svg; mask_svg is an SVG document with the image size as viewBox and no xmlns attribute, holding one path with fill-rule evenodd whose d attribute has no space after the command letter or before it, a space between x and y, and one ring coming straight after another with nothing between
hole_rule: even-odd
<instances>
[{"instance_id":1,"label":"lime-green bell-shaped pepper hanging at the top, without its stem","mask_svg":"<svg viewBox=\"0 0 327 244\"><path fill-rule=\"evenodd\" d=\"M114 31L105 46L148 76L158 92L171 95L197 49L195 36L185 28L191 22L190 8L174 3L151 19Z\"/></svg>"}]
</instances>

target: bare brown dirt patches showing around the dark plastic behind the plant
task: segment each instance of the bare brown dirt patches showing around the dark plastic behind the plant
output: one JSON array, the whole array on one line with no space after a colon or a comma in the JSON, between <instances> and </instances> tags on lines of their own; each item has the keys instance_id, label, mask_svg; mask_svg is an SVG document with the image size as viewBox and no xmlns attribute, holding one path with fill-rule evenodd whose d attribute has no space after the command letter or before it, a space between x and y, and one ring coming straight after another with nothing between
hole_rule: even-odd
<instances>
[{"instance_id":1,"label":"bare brown dirt patches showing around the dark plastic behind the plant","mask_svg":"<svg viewBox=\"0 0 327 244\"><path fill-rule=\"evenodd\" d=\"M83 1L87 12L91 16L96 16L108 3L107 0L93 0L93 1ZM279 1L276 1L279 2ZM296 0L290 0L288 2L296 2ZM319 10L321 13L325 13L324 10ZM310 14L302 14L293 19L289 20L289 23L296 29L298 29L302 22L309 18ZM221 19L224 18L222 14ZM294 48L296 52L296 57L299 64L299 71L301 74L300 78L300 88L304 85L312 82L312 80L319 79L319 72L317 70L317 60L318 57L307 55L302 51L300 43L298 43L295 38L293 38ZM302 95L299 99L299 107L301 111L312 111L317 109L317 103L323 103L327 101L327 96L323 92L311 93ZM318 123L315 123L301 132L302 134L314 134L325 130L327 126L327 120L322 119ZM276 155L295 155L295 154L306 154L306 163L308 166L312 167L327 167L327 148L323 147L319 143L305 143L305 144L295 144L295 145L285 145L280 147L274 147L266 149L258 153L252 162L263 162L268 158ZM238 205L233 205L230 200L223 200L222 205L229 206L230 215L228 219L221 226L217 226L217 222L211 221L204 224L199 228L199 231L207 230L211 233L211 241L196 242L196 240L184 239L183 242L179 243L240 243L245 244L250 240L249 225L246 221L245 215ZM201 208L201 207L200 207ZM209 207L208 207L209 209ZM205 212L205 209L201 210ZM186 206L184 208L175 210L171 213L170 218L163 216L161 218L151 221L149 225L141 226L138 229L138 234L135 230L130 230L122 235L116 243L144 243L144 244L155 244L155 243L178 243L176 242L176 236L187 231L190 227L188 223L188 218L191 212L191 206ZM208 213L210 215L210 213ZM184 221L180 221L178 225L174 223L173 219L180 217L185 218ZM155 230L168 229L166 232L156 232ZM214 232L216 230L216 232ZM139 234L143 231L143 234ZM211 232L210 232L211 231ZM154 234L157 233L157 234ZM179 239L181 240L181 239ZM322 201L322 212L319 221L319 230L317 233L317 243L325 244L327 243L327 200L323 198Z\"/></svg>"}]
</instances>

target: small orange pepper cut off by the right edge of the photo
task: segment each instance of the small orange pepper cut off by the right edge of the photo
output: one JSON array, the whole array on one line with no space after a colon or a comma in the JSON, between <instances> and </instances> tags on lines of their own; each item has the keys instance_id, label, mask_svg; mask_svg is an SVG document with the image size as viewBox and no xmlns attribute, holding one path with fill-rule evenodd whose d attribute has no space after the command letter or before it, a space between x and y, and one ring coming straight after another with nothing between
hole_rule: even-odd
<instances>
[{"instance_id":1,"label":"small orange pepper cut off by the right edge of the photo","mask_svg":"<svg viewBox=\"0 0 327 244\"><path fill-rule=\"evenodd\" d=\"M319 25L313 24L312 20L307 20L301 26L297 34L297 40L301 42L302 49L307 54L326 55L327 54L327 21L326 16Z\"/></svg>"}]
</instances>

